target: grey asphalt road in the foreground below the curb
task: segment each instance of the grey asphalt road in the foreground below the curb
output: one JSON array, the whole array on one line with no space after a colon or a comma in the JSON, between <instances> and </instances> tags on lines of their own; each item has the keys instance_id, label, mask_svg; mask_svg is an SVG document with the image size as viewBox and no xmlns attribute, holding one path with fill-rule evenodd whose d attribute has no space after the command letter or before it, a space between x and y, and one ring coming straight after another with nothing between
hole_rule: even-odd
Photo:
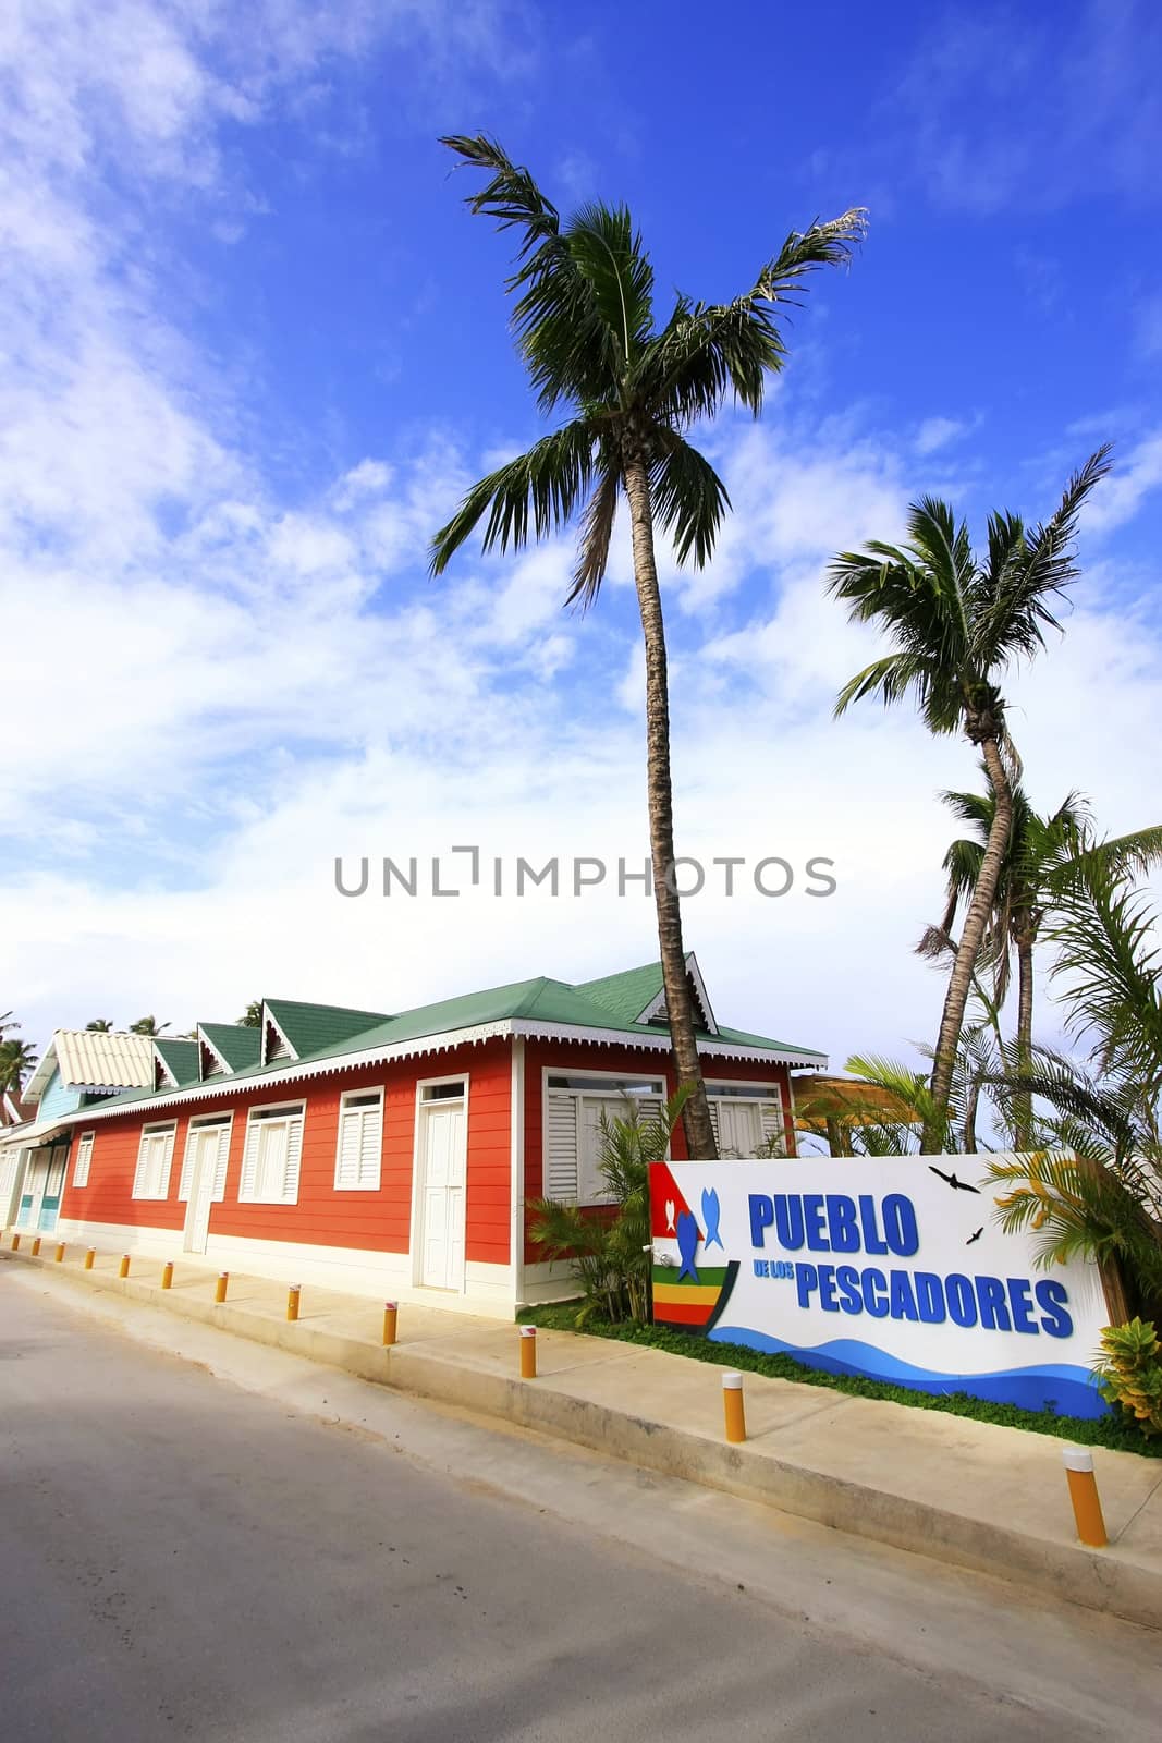
<instances>
[{"instance_id":1,"label":"grey asphalt road in the foreground below the curb","mask_svg":"<svg viewBox=\"0 0 1162 1743\"><path fill-rule=\"evenodd\" d=\"M479 1426L456 1440L455 1419L383 1394L378 1417L328 1422L319 1398L301 1389L326 1391L321 1370L293 1403L289 1382L268 1370L235 1384L7 1269L7 1743L620 1743L659 1734L1089 1743L1099 1734L1092 1713L1071 1720L1063 1712L1068 1698L1038 1708L1035 1692L996 1685L1000 1658L979 1663L974 1651L976 1666L965 1666L956 1638L930 1644L927 1668L901 1661L883 1644L892 1616L880 1612L890 1598L873 1605L876 1644L808 1619L798 1598L782 1604L768 1558L768 1591L725 1577L733 1523L754 1509L706 1497L713 1506L702 1513L683 1485L643 1483L659 1541L667 1520L676 1534L702 1532L690 1539L700 1544L699 1565L686 1569L627 1541L618 1511L634 1508L632 1483L615 1473L603 1480L596 1461ZM347 1400L359 1396L357 1382L336 1375L334 1401L340 1386ZM444 1469L434 1468L441 1461ZM498 1494L474 1468L526 1473L533 1499ZM538 1487L557 1502L540 1506ZM829 1569L826 1584L833 1576L841 1584L847 1539L817 1539L800 1550L786 1541L786 1577L810 1574L822 1590ZM800 1553L810 1569L796 1576ZM929 1563L899 1560L908 1562L899 1577L923 1584ZM909 1598L901 1591L902 1633ZM934 1631L937 1598L934 1588ZM918 1614L927 1614L923 1600L918 1591ZM988 1624L988 1604L974 1602ZM998 1654L1019 1616L1021 1604L996 1616ZM1077 1626L1077 1612L1066 1623L1030 1621L1052 1633L1066 1661L1087 1638L1070 1633ZM1157 1663L1157 1637L1115 1637L1110 1626L1094 1618L1094 1652L1125 1649L1132 1659L1141 1647L1141 1665ZM941 1663L946 1670L932 1668ZM1111 1685L1134 1675L1111 1659ZM1150 1734L1113 1708L1110 1717L1124 1743Z\"/></svg>"}]
</instances>

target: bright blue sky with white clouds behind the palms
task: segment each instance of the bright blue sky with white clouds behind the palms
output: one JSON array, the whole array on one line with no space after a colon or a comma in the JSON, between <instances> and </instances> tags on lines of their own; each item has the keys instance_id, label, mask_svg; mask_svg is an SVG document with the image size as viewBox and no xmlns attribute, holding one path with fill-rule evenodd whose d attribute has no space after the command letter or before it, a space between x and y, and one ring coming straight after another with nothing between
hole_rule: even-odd
<instances>
[{"instance_id":1,"label":"bright blue sky with white clouds behind the palms","mask_svg":"<svg viewBox=\"0 0 1162 1743\"><path fill-rule=\"evenodd\" d=\"M875 641L822 593L920 492L1037 518L1117 441L1014 732L1038 804L1153 821L1155 7L746 7L714 35L674 3L38 0L0 58L0 1007L33 1039L653 952L648 903L606 891L333 891L334 854L646 845L625 544L585 619L568 539L425 575L463 486L538 434L509 244L446 131L495 132L563 207L627 200L660 305L869 209L763 422L704 436L735 502L713 568L664 568L679 849L838 868L826 903L688 905L719 1016L836 1060L934 1028L909 946L939 908L936 795L972 758L906 713L831 722Z\"/></svg>"}]
</instances>

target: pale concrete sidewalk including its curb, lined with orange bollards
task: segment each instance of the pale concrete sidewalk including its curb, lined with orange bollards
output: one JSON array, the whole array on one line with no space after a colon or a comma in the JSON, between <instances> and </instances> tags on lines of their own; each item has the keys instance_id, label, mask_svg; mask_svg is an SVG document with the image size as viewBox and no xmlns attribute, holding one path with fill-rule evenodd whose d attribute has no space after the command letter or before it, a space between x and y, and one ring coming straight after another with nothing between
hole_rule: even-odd
<instances>
[{"instance_id":1,"label":"pale concrete sidewalk including its curb, lined with orange bollards","mask_svg":"<svg viewBox=\"0 0 1162 1743\"><path fill-rule=\"evenodd\" d=\"M298 1323L286 1319L286 1285L230 1276L214 1304L218 1271L178 1257L160 1288L159 1260L84 1248L54 1262L3 1236L5 1262L38 1265L70 1293L113 1290L129 1299L291 1349L366 1380L502 1417L606 1455L704 1483L786 1513L979 1569L1061 1600L1162 1628L1162 1461L1096 1448L1108 1550L1073 1536L1061 1448L1045 1434L848 1398L821 1386L746 1375L747 1441L723 1438L716 1367L599 1337L538 1332L538 1377L519 1379L510 1323L401 1306L399 1340L382 1344L382 1306L305 1286Z\"/></svg>"}]
</instances>

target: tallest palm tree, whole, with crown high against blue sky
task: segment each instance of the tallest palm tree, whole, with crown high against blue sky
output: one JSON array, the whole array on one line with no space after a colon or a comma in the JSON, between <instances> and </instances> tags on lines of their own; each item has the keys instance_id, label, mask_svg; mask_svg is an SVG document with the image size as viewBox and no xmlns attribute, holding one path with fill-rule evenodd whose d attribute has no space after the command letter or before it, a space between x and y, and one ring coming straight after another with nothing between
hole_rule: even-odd
<instances>
[{"instance_id":1,"label":"tallest palm tree, whole, with crown high against blue sky","mask_svg":"<svg viewBox=\"0 0 1162 1743\"><path fill-rule=\"evenodd\" d=\"M669 680L655 526L679 561L704 565L730 505L713 465L686 441L728 394L756 417L767 378L786 361L780 315L812 270L845 261L864 234L862 211L793 234L730 303L679 295L664 326L653 319L653 268L624 206L582 206L561 216L528 169L484 136L443 141L486 185L469 207L519 234L507 289L512 326L544 413L570 418L528 453L467 493L432 540L439 575L484 514L484 549L519 549L580 512L570 601L592 605L606 575L613 518L629 505L638 610L646 652L646 783L653 899L674 1065L690 1088L685 1107L692 1156L716 1156L686 981L674 877ZM531 521L531 526L530 526Z\"/></svg>"}]
</instances>

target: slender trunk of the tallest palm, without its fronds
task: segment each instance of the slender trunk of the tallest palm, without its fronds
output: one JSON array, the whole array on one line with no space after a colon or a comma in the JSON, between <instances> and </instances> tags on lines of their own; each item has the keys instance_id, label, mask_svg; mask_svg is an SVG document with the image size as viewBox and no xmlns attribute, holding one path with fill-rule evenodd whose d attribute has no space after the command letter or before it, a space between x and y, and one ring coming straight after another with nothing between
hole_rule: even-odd
<instances>
[{"instance_id":1,"label":"slender trunk of the tallest palm, without its fronds","mask_svg":"<svg viewBox=\"0 0 1162 1743\"><path fill-rule=\"evenodd\" d=\"M624 465L625 497L634 540L634 582L641 634L646 645L646 793L650 807L650 858L653 861L653 903L662 950L662 985L669 1013L678 1082L690 1086L683 1110L686 1150L699 1161L714 1161L718 1147L711 1110L702 1084L699 1048L693 1039L693 1006L686 980L686 953L681 941L681 905L674 878L674 793L669 772L669 676L665 664L665 627L662 593L653 558L653 509L650 476L639 453L627 453Z\"/></svg>"}]
</instances>

